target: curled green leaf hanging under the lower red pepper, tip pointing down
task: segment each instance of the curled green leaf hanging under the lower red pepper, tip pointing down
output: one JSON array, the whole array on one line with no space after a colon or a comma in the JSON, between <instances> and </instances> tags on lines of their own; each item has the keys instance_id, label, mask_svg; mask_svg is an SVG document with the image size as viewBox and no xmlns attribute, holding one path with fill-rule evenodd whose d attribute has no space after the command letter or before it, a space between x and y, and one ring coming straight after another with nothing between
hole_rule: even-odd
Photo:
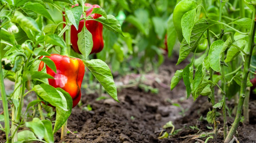
<instances>
[{"instance_id":1,"label":"curled green leaf hanging under the lower red pepper, tip pointing down","mask_svg":"<svg viewBox=\"0 0 256 143\"><path fill-rule=\"evenodd\" d=\"M57 132L61 128L61 126L67 121L67 119L71 115L72 106L73 106L72 97L69 95L68 92L64 91L61 88L56 88L56 90L60 91L64 95L66 102L68 104L68 111L65 111L59 107L56 107L56 119L55 119L55 124L53 128L53 133Z\"/></svg>"}]
</instances>

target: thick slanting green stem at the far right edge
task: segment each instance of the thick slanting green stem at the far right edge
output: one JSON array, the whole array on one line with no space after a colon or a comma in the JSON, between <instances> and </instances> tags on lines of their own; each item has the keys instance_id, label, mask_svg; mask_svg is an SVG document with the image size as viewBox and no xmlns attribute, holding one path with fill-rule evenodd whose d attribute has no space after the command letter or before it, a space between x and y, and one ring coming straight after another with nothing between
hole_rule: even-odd
<instances>
[{"instance_id":1,"label":"thick slanting green stem at the far right edge","mask_svg":"<svg viewBox=\"0 0 256 143\"><path fill-rule=\"evenodd\" d=\"M250 32L249 32L248 48L247 48L247 51L245 51L247 53L247 55L245 55L245 65L244 65L244 71L243 71L243 75L242 75L242 85L241 85L240 94L239 94L239 102L238 102L238 107L237 107L236 118L235 118L234 123L232 124L232 127L231 127L224 143L229 143L231 141L231 139L233 138L233 135L236 132L238 124L241 120L243 104L245 101L247 77L249 74L249 68L250 68L253 47L255 46L254 45L254 35L255 35L255 29L256 29L255 14L256 14L256 6L253 5L252 23L251 23L251 28L250 28Z\"/></svg>"}]
</instances>

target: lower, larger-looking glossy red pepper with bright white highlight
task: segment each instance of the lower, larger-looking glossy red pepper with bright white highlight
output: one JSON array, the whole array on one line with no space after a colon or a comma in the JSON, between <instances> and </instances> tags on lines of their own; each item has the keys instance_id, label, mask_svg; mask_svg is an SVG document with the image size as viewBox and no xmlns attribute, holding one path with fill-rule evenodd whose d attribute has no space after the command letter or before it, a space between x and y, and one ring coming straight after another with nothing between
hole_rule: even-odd
<instances>
[{"instance_id":1,"label":"lower, larger-looking glossy red pepper with bright white highlight","mask_svg":"<svg viewBox=\"0 0 256 143\"><path fill-rule=\"evenodd\" d=\"M81 99L81 84L84 78L84 63L79 58L70 58L58 54L51 54L49 57L53 60L57 73L46 65L46 72L54 77L48 79L49 85L57 88L60 87L70 94L73 100L73 108ZM41 61L38 71L44 67L44 62Z\"/></svg>"}]
</instances>

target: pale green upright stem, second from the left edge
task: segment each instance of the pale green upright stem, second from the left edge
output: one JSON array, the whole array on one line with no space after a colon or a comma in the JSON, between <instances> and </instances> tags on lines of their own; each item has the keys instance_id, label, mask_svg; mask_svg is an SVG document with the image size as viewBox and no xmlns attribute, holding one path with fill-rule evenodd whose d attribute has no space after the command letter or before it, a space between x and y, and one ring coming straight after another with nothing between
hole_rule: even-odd
<instances>
[{"instance_id":1,"label":"pale green upright stem, second from the left edge","mask_svg":"<svg viewBox=\"0 0 256 143\"><path fill-rule=\"evenodd\" d=\"M15 84L14 84L14 89L16 89L13 93L13 99L19 101L19 95L20 95L20 83L21 83L21 77L19 76L21 74L21 70L17 71L15 73ZM14 104L11 105L11 141L16 142L18 141L18 134L16 132L17 129L17 124L15 124L13 121L16 119L17 115L17 109L18 107L15 107Z\"/></svg>"}]
</instances>

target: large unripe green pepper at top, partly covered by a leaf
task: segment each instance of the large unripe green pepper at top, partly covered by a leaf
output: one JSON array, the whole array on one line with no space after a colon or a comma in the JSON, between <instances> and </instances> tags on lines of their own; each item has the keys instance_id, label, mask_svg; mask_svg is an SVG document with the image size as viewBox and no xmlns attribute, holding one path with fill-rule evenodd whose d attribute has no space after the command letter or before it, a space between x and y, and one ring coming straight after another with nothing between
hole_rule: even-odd
<instances>
[{"instance_id":1,"label":"large unripe green pepper at top, partly covered by a leaf","mask_svg":"<svg viewBox=\"0 0 256 143\"><path fill-rule=\"evenodd\" d=\"M196 6L197 6L197 3L194 0L181 0L174 8L173 24L180 42L183 39L182 28L181 28L181 18L186 12L196 8Z\"/></svg>"}]
</instances>

